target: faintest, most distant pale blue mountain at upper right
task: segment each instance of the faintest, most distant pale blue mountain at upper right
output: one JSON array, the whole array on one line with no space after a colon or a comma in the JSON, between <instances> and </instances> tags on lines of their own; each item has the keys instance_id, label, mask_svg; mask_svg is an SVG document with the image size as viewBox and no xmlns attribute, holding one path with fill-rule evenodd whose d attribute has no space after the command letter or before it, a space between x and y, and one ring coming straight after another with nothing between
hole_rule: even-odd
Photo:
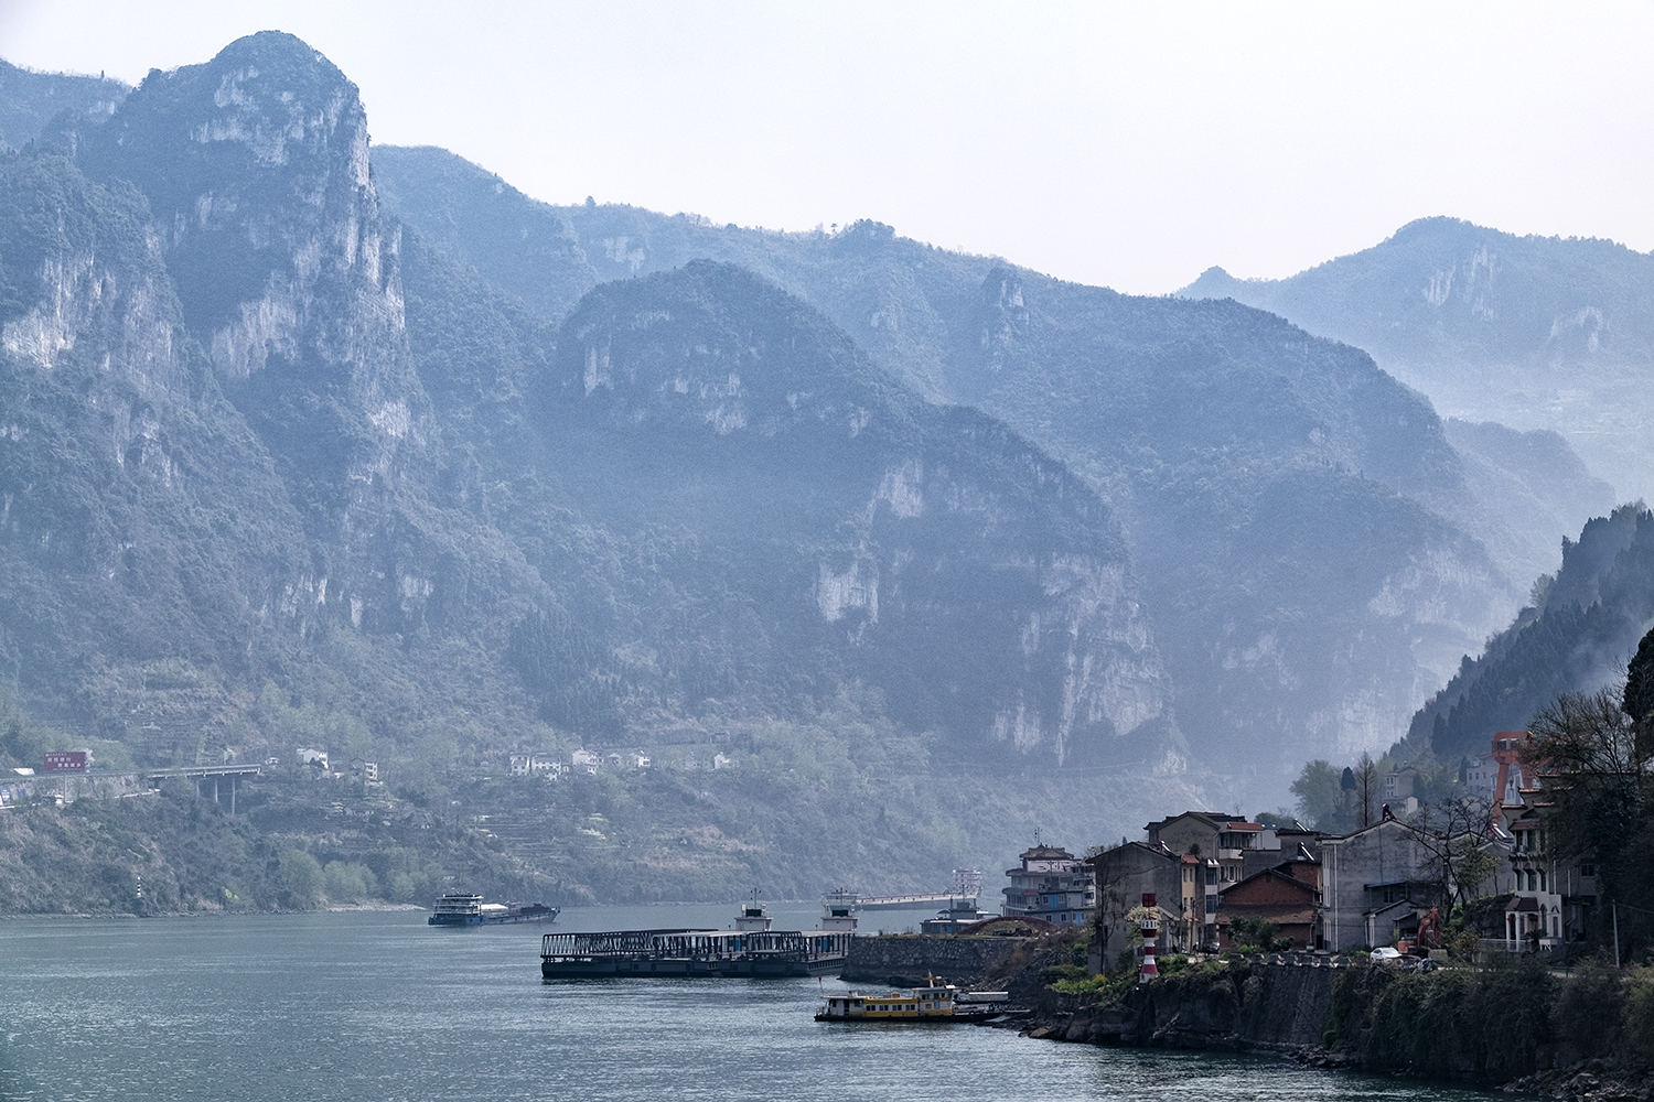
<instances>
[{"instance_id":1,"label":"faintest, most distant pale blue mountain at upper right","mask_svg":"<svg viewBox=\"0 0 1654 1102\"><path fill-rule=\"evenodd\" d=\"M1178 294L1360 345L1447 415L1555 430L1621 499L1654 492L1654 254L1422 218L1287 279L1212 268Z\"/></svg>"}]
</instances>

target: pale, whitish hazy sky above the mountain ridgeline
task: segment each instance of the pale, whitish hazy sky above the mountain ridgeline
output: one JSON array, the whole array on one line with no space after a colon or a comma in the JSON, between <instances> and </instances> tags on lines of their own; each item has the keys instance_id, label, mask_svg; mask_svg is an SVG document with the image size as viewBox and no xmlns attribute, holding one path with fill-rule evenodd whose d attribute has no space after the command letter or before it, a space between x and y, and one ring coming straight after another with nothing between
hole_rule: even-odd
<instances>
[{"instance_id":1,"label":"pale, whitish hazy sky above the mountain ridgeline","mask_svg":"<svg viewBox=\"0 0 1654 1102\"><path fill-rule=\"evenodd\" d=\"M1654 0L0 0L0 56L131 83L265 28L361 86L375 142L559 203L877 218L1138 292L1424 215L1654 248Z\"/></svg>"}]
</instances>

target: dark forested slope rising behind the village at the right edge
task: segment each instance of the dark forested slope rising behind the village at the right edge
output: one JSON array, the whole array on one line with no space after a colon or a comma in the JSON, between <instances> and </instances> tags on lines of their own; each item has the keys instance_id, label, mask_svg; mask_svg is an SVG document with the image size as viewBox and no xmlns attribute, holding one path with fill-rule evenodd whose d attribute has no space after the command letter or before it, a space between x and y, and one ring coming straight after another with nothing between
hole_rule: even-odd
<instances>
[{"instance_id":1,"label":"dark forested slope rising behind the village at the right edge","mask_svg":"<svg viewBox=\"0 0 1654 1102\"><path fill-rule=\"evenodd\" d=\"M1525 729L1560 694L1623 684L1654 628L1654 514L1623 506L1594 517L1550 582L1419 709L1409 742L1449 763L1485 755L1490 732Z\"/></svg>"}]
</instances>

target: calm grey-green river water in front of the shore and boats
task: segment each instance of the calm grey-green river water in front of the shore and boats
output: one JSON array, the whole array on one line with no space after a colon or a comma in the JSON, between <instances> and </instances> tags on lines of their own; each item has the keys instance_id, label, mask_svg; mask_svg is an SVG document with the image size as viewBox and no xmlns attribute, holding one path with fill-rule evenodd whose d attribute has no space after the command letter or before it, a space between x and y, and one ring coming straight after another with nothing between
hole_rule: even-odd
<instances>
[{"instance_id":1,"label":"calm grey-green river water in front of the shore and boats","mask_svg":"<svg viewBox=\"0 0 1654 1102\"><path fill-rule=\"evenodd\" d=\"M799 929L819 909L772 912ZM590 907L475 930L412 910L0 922L0 1099L1485 1097L1262 1057L817 1023L835 980L539 978L549 929L721 929L733 914Z\"/></svg>"}]
</instances>

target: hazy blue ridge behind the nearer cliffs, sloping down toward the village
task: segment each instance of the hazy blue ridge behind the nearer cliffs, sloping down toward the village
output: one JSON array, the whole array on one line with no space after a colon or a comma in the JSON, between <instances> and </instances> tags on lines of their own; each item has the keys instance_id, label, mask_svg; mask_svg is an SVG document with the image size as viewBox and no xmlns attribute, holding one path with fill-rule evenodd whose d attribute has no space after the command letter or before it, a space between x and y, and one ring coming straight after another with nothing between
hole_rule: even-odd
<instances>
[{"instance_id":1,"label":"hazy blue ridge behind the nearer cliffs, sloping down toward the village","mask_svg":"<svg viewBox=\"0 0 1654 1102\"><path fill-rule=\"evenodd\" d=\"M1515 529L1477 492L1503 474L1457 453L1416 392L1259 311L1065 284L872 221L771 233L549 207L428 147L379 147L374 172L389 210L531 312L696 258L739 264L890 378L1064 459L1120 517L1179 727L1237 775L1383 743L1507 623L1507 578L1553 568L1575 530Z\"/></svg>"}]
</instances>

